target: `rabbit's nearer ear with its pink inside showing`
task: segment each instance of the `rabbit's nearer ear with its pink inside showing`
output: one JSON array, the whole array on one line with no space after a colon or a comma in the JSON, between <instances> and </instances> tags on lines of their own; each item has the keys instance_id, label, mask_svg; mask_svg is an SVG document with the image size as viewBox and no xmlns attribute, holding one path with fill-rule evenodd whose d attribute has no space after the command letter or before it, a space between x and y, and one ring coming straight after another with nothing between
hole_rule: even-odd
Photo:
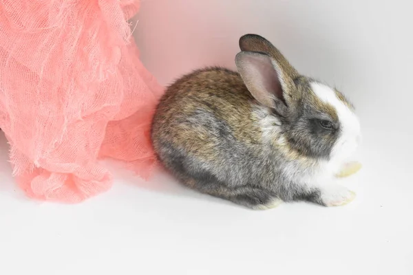
<instances>
[{"instance_id":1,"label":"rabbit's nearer ear with its pink inside showing","mask_svg":"<svg viewBox=\"0 0 413 275\"><path fill-rule=\"evenodd\" d=\"M240 52L235 63L253 97L266 107L275 109L279 115L286 115L295 87L286 85L293 80L279 65L268 55L257 52Z\"/></svg>"}]
</instances>

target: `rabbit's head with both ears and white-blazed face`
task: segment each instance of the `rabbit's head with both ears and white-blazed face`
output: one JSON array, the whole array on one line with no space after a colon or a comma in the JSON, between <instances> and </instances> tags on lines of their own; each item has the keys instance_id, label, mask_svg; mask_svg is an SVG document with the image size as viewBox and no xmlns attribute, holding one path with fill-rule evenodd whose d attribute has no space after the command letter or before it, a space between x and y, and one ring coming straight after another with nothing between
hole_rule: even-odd
<instances>
[{"instance_id":1,"label":"rabbit's head with both ears and white-blazed face","mask_svg":"<svg viewBox=\"0 0 413 275\"><path fill-rule=\"evenodd\" d=\"M326 161L350 157L359 144L360 124L341 92L299 74L262 36L242 36L240 48L238 72L257 102L279 120L289 150Z\"/></svg>"}]
</instances>

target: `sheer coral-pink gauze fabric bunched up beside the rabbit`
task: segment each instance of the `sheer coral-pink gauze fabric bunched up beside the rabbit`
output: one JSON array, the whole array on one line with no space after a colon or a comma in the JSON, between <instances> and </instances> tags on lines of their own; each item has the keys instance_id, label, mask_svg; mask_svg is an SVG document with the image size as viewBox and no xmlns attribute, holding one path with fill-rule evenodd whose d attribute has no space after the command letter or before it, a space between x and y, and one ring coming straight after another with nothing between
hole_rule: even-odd
<instances>
[{"instance_id":1,"label":"sheer coral-pink gauze fabric bunched up beside the rabbit","mask_svg":"<svg viewBox=\"0 0 413 275\"><path fill-rule=\"evenodd\" d=\"M0 129L30 197L76 203L108 190L100 157L142 177L156 164L162 87L131 36L137 11L137 1L0 0Z\"/></svg>"}]
</instances>

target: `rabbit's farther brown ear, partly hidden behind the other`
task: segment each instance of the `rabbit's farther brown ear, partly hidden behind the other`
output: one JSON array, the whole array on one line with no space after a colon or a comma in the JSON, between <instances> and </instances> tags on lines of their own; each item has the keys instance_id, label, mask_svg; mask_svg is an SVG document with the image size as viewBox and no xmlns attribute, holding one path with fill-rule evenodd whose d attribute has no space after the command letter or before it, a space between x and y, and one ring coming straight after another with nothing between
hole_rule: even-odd
<instances>
[{"instance_id":1,"label":"rabbit's farther brown ear, partly hidden behind the other","mask_svg":"<svg viewBox=\"0 0 413 275\"><path fill-rule=\"evenodd\" d=\"M240 48L242 52L262 52L270 56L277 62L282 72L288 75L289 78L294 79L299 76L297 70L290 65L287 59L282 55L274 45L264 39L264 37L257 34L245 34L240 38Z\"/></svg>"}]
</instances>

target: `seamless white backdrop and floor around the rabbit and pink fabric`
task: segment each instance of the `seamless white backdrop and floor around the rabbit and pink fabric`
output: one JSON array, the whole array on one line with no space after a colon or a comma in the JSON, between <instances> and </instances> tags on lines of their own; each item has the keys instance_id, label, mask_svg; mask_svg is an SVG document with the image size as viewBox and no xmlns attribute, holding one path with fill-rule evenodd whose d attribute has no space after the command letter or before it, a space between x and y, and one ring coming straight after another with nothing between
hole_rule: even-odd
<instances>
[{"instance_id":1,"label":"seamless white backdrop and floor around the rabbit and pink fabric","mask_svg":"<svg viewBox=\"0 0 413 275\"><path fill-rule=\"evenodd\" d=\"M0 274L413 274L413 17L409 1L146 0L137 36L162 84L233 67L237 39L273 41L300 72L335 83L362 122L348 206L252 211L116 172L75 206L27 199L0 135ZM115 169L115 168L114 168Z\"/></svg>"}]
</instances>

